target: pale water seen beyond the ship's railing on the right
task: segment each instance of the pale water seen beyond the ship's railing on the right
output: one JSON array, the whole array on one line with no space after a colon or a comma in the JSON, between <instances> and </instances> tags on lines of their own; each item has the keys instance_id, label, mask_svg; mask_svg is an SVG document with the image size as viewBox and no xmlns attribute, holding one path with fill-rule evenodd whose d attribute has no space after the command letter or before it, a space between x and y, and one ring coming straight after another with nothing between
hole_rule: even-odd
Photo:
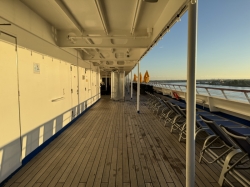
<instances>
[{"instance_id":1,"label":"pale water seen beyond the ship's railing on the right","mask_svg":"<svg viewBox=\"0 0 250 187\"><path fill-rule=\"evenodd\" d=\"M175 83L161 82L161 84L174 84L175 86L166 85L166 87L167 88L170 87L171 89L176 89L179 91L186 92L186 87L185 87L186 82L175 82ZM214 90L214 89L209 89L209 88L211 87L211 88L222 88L222 89L224 88L224 89L249 90L250 91L250 87L220 86L220 85L208 85L208 84L197 84L197 86L207 87L211 96L221 97L221 98L225 98L225 96L221 90ZM209 95L209 93L207 92L207 90L205 88L197 88L197 92L198 92L198 94L201 94L201 95ZM229 100L237 100L237 101L249 103L246 95L243 92L224 90L224 93L225 93L227 99L229 99ZM246 94L247 94L248 98L250 98L250 92L247 92Z\"/></svg>"}]
</instances>

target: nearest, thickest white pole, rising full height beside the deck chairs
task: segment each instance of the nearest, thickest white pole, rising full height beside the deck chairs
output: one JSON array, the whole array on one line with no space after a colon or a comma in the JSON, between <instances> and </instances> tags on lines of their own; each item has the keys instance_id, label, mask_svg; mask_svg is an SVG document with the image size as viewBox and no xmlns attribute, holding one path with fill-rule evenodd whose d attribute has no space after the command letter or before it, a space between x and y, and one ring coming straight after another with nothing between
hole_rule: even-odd
<instances>
[{"instance_id":1,"label":"nearest, thickest white pole, rising full height beside the deck chairs","mask_svg":"<svg viewBox=\"0 0 250 187\"><path fill-rule=\"evenodd\" d=\"M187 58L187 139L186 139L186 186L195 186L195 116L196 116L196 51L197 10L196 3L188 7L188 58Z\"/></svg>"}]
</instances>

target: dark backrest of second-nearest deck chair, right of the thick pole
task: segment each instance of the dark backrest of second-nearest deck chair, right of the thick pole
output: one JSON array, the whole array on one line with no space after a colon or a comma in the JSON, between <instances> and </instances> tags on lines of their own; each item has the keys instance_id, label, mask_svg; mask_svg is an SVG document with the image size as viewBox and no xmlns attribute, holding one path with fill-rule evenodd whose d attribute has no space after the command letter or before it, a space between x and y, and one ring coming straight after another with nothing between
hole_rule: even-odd
<instances>
[{"instance_id":1,"label":"dark backrest of second-nearest deck chair, right of the thick pole","mask_svg":"<svg viewBox=\"0 0 250 187\"><path fill-rule=\"evenodd\" d=\"M199 115L202 121L204 121L207 126L220 137L221 140L225 142L230 147L238 148L238 145L219 127L219 125L215 121L210 121L205 116Z\"/></svg>"}]
</instances>

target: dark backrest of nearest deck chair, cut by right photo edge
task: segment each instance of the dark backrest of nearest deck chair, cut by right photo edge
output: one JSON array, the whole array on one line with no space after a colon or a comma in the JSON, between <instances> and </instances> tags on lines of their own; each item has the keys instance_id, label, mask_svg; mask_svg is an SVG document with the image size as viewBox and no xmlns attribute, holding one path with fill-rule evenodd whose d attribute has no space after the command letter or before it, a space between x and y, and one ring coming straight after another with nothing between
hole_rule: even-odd
<instances>
[{"instance_id":1,"label":"dark backrest of nearest deck chair, cut by right photo edge","mask_svg":"<svg viewBox=\"0 0 250 187\"><path fill-rule=\"evenodd\" d=\"M248 156L250 156L250 137L244 136L243 134L223 125L221 125L221 128L228 136L231 137L231 139L240 147L243 152L248 153Z\"/></svg>"}]
</instances>

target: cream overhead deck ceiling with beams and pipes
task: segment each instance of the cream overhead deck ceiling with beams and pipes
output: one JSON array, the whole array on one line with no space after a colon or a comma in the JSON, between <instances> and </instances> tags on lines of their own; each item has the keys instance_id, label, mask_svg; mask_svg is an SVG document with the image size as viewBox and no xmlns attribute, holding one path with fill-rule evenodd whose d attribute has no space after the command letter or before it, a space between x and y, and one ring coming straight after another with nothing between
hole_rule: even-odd
<instances>
[{"instance_id":1,"label":"cream overhead deck ceiling with beams and pipes","mask_svg":"<svg viewBox=\"0 0 250 187\"><path fill-rule=\"evenodd\" d=\"M78 50L102 75L129 73L187 9L187 0L21 1L56 28L59 47Z\"/></svg>"}]
</instances>

